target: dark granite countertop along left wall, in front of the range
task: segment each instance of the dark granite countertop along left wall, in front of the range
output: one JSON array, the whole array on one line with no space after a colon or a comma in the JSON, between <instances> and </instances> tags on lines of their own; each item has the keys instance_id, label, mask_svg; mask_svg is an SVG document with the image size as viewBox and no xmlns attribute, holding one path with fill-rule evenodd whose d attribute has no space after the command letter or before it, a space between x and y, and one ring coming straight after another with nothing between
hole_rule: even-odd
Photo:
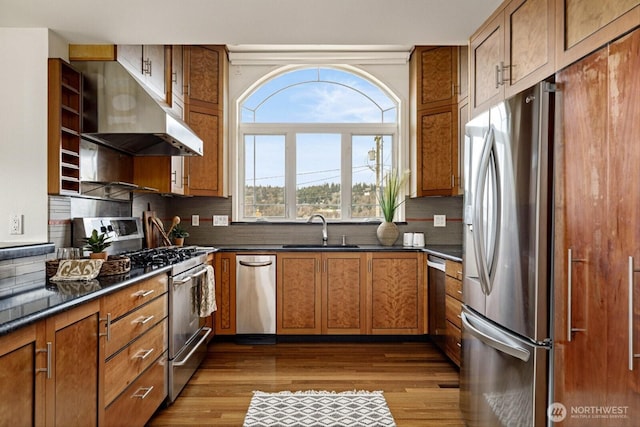
<instances>
[{"instance_id":1,"label":"dark granite countertop along left wall, in front of the range","mask_svg":"<svg viewBox=\"0 0 640 427\"><path fill-rule=\"evenodd\" d=\"M0 336L170 269L136 268L126 274L60 285L46 281L41 287L0 298Z\"/></svg>"}]
</instances>

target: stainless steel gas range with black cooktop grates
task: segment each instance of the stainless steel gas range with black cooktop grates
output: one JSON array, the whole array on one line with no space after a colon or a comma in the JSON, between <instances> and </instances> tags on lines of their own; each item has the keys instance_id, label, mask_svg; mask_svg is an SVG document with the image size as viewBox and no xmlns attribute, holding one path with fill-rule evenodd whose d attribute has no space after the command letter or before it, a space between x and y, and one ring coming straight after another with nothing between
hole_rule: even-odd
<instances>
[{"instance_id":1,"label":"stainless steel gas range with black cooktop grates","mask_svg":"<svg viewBox=\"0 0 640 427\"><path fill-rule=\"evenodd\" d=\"M173 403L206 356L211 328L199 316L207 281L206 252L197 247L162 247L128 252L132 267L162 267L169 272L168 403Z\"/></svg>"}]
</instances>

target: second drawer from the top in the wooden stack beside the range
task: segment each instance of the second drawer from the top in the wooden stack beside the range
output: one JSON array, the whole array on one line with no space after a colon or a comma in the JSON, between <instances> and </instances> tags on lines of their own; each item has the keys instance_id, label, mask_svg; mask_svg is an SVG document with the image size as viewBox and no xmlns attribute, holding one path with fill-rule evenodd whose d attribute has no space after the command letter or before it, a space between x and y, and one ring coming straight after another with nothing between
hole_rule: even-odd
<instances>
[{"instance_id":1,"label":"second drawer from the top in the wooden stack beside the range","mask_svg":"<svg viewBox=\"0 0 640 427\"><path fill-rule=\"evenodd\" d=\"M115 322L112 321L111 337L105 342L105 357L110 357L167 317L167 310L167 295L165 294Z\"/></svg>"}]
</instances>

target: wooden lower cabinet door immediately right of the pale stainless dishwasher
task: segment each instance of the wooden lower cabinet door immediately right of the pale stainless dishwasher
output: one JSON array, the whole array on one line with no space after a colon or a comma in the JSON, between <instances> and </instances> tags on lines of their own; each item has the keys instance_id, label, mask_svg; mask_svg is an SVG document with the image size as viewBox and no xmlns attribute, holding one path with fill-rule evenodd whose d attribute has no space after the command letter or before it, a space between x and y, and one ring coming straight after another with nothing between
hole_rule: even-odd
<instances>
[{"instance_id":1,"label":"wooden lower cabinet door immediately right of the pale stainless dishwasher","mask_svg":"<svg viewBox=\"0 0 640 427\"><path fill-rule=\"evenodd\" d=\"M283 252L277 255L277 334L322 332L321 287L322 254Z\"/></svg>"}]
</instances>

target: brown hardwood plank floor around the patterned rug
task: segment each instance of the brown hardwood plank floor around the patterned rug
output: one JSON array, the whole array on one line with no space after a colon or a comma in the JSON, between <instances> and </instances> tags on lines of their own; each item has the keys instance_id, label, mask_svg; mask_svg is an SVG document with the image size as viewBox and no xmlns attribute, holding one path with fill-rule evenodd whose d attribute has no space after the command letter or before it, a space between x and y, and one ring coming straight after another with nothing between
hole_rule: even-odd
<instances>
[{"instance_id":1,"label":"brown hardwood plank floor around the patterned rug","mask_svg":"<svg viewBox=\"0 0 640 427\"><path fill-rule=\"evenodd\" d=\"M149 426L242 426L252 392L382 390L402 426L463 426L458 370L431 343L212 342L173 405Z\"/></svg>"}]
</instances>

